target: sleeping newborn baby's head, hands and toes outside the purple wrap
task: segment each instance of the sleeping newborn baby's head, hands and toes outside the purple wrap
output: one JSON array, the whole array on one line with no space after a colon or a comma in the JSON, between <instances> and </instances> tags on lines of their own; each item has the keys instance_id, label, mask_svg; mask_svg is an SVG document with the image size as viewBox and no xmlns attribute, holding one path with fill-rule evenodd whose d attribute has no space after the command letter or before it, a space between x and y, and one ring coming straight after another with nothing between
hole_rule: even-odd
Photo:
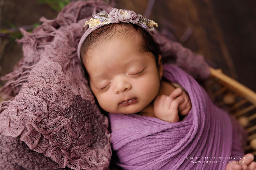
<instances>
[{"instance_id":1,"label":"sleeping newborn baby's head, hands and toes outside the purple wrap","mask_svg":"<svg viewBox=\"0 0 256 170\"><path fill-rule=\"evenodd\" d=\"M136 24L121 22L95 29L83 42L80 56L91 91L107 112L172 123L191 110L182 87L163 78L158 45ZM247 156L245 163L229 163L226 169L255 169L253 155Z\"/></svg>"}]
</instances>

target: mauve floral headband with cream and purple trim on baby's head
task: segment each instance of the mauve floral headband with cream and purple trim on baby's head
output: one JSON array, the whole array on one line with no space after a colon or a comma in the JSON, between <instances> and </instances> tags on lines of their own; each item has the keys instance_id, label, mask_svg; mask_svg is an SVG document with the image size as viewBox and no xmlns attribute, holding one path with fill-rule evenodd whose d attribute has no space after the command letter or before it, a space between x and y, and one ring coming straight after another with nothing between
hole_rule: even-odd
<instances>
[{"instance_id":1,"label":"mauve floral headband with cream and purple trim on baby's head","mask_svg":"<svg viewBox=\"0 0 256 170\"><path fill-rule=\"evenodd\" d=\"M153 20L149 20L146 17L143 17L140 14L136 14L131 10L112 8L109 14L106 11L101 11L100 13L93 15L93 18L86 21L84 25L84 27L86 25L89 25L89 28L85 31L85 33L83 34L78 44L77 56L79 61L81 61L80 50L84 40L91 32L93 32L94 30L98 29L101 26L112 24L112 23L120 23L120 22L133 23L133 24L139 25L150 34L152 31L155 30L154 26L158 27L158 24Z\"/></svg>"}]
</instances>

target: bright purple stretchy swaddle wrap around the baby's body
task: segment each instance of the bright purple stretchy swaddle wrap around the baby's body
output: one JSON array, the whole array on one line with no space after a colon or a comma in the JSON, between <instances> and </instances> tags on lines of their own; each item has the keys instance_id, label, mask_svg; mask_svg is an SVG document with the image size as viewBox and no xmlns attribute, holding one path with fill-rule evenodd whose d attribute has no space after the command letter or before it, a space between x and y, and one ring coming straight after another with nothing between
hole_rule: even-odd
<instances>
[{"instance_id":1,"label":"bright purple stretchy swaddle wrap around the baby's body","mask_svg":"<svg viewBox=\"0 0 256 170\"><path fill-rule=\"evenodd\" d=\"M176 123L109 113L117 165L129 170L225 169L229 161L238 160L235 156L244 156L230 116L211 102L194 78L169 64L164 65L164 77L188 92L190 112Z\"/></svg>"}]
</instances>

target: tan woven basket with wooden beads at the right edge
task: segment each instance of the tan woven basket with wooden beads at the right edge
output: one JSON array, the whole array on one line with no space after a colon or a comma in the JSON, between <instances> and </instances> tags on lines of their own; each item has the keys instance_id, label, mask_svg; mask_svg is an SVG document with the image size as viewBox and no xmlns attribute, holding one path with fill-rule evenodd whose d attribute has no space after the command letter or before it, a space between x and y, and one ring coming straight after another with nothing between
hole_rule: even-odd
<instances>
[{"instance_id":1,"label":"tan woven basket with wooden beads at the right edge","mask_svg":"<svg viewBox=\"0 0 256 170\"><path fill-rule=\"evenodd\" d=\"M256 93L223 74L221 69L210 70L211 76L204 88L216 105L233 114L246 129L245 153L256 157Z\"/></svg>"}]
</instances>

